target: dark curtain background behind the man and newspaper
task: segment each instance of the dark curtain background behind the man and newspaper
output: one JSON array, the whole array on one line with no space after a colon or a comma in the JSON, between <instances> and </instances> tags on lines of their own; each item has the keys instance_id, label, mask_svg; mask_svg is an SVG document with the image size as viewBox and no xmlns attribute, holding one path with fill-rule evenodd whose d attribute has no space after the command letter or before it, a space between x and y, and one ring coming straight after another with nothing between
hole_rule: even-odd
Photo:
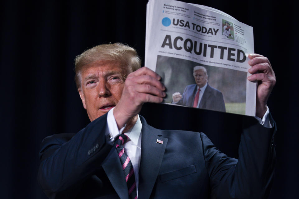
<instances>
[{"instance_id":1,"label":"dark curtain background behind the man and newspaper","mask_svg":"<svg viewBox=\"0 0 299 199\"><path fill-rule=\"evenodd\" d=\"M88 123L74 83L74 58L97 44L123 42L144 60L146 0L2 1L1 198L45 198L37 183L40 142ZM277 166L270 198L297 198L298 19L292 1L189 1L217 8L254 27L255 52L269 58L277 85L268 101L277 122ZM246 116L145 104L148 123L205 132L237 157Z\"/></svg>"}]
</instances>

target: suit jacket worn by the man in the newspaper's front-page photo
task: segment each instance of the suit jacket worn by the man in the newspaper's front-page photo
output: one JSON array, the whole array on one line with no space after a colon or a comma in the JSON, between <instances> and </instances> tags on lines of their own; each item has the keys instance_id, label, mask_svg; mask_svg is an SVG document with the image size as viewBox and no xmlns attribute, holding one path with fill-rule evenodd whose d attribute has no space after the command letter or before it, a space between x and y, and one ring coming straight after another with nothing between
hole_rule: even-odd
<instances>
[{"instance_id":1,"label":"suit jacket worn by the man in the newspaper's front-page photo","mask_svg":"<svg viewBox=\"0 0 299 199\"><path fill-rule=\"evenodd\" d=\"M196 92L196 84L186 86L182 99L175 104L192 107ZM202 95L198 108L225 112L225 104L222 93L208 84Z\"/></svg>"}]
</instances>

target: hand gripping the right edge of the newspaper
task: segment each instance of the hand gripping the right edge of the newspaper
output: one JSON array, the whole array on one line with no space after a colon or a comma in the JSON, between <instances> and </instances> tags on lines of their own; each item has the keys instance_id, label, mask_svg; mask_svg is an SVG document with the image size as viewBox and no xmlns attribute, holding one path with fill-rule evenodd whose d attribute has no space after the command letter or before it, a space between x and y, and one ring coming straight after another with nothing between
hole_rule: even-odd
<instances>
[{"instance_id":1,"label":"hand gripping the right edge of the newspaper","mask_svg":"<svg viewBox=\"0 0 299 199\"><path fill-rule=\"evenodd\" d=\"M255 115L263 118L267 111L267 100L276 83L276 78L268 58L259 54L249 54L248 58L250 59L248 63L252 66L248 72L253 75L247 79L258 81Z\"/></svg>"}]
</instances>

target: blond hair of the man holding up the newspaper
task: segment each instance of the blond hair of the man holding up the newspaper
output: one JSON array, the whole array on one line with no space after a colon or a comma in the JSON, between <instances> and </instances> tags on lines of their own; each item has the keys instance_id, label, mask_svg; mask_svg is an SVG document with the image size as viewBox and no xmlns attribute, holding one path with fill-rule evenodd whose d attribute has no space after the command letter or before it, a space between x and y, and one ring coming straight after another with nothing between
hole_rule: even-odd
<instances>
[{"instance_id":1,"label":"blond hair of the man holding up the newspaper","mask_svg":"<svg viewBox=\"0 0 299 199\"><path fill-rule=\"evenodd\" d=\"M141 59L134 48L122 44L102 44L85 50L75 58L75 81L77 88L81 87L83 66L94 61L117 62L128 66L128 73L136 71L141 66Z\"/></svg>"}]
</instances>

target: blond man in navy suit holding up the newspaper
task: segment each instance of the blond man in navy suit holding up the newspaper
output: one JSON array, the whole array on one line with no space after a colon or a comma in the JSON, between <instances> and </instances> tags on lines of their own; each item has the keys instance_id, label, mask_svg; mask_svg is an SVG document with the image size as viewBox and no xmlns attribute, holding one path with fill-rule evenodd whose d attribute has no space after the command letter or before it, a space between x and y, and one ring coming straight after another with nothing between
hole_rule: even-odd
<instances>
[{"instance_id":1,"label":"blond man in navy suit holding up the newspaper","mask_svg":"<svg viewBox=\"0 0 299 199\"><path fill-rule=\"evenodd\" d=\"M134 49L104 44L83 52L75 59L76 84L91 123L76 134L43 140L38 172L43 191L49 198L267 197L275 123L266 102L275 76L266 58L249 58L250 73L264 72L248 78L261 81L262 119L246 123L238 161L203 133L155 129L138 115L143 103L162 102L165 87L155 72L139 68Z\"/></svg>"}]
</instances>

